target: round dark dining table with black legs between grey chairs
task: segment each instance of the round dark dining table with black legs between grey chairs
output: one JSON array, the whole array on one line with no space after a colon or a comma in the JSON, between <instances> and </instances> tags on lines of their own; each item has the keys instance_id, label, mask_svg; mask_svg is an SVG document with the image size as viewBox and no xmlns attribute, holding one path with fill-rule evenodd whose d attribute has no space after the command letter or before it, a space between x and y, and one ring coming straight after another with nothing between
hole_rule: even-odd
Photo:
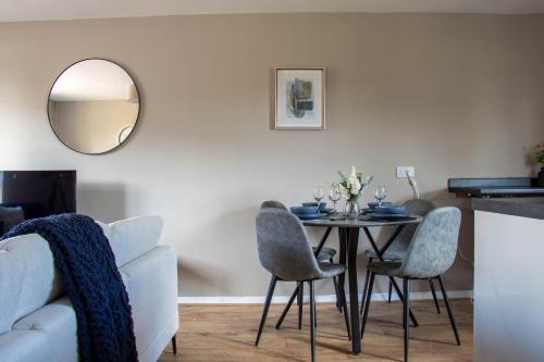
<instances>
[{"instance_id":1,"label":"round dark dining table with black legs between grey chairs","mask_svg":"<svg viewBox=\"0 0 544 362\"><path fill-rule=\"evenodd\" d=\"M339 219L339 220L338 220ZM387 248L395 241L400 232L406 225L419 224L423 221L421 216L411 216L405 220L395 221L384 221L384 220L373 220L371 216L359 216L357 219L347 217L324 217L318 220L307 220L302 221L305 226L317 226L324 227L325 233L321 238L321 241L317 248L316 255L319 254L323 246L325 245L329 235L333 228L338 229L338 240L339 240L339 251L338 262L347 266L347 274L349 276L349 328L351 337L351 351L354 354L359 354L361 352L361 329L360 329L360 319L359 319L359 288L358 288L358 276L357 276L357 251L359 247L359 230L362 229L367 236L370 246L378 254L378 258L383 261L383 253ZM370 228L373 227L395 227L393 234L390 236L387 241L380 248L378 247ZM397 283L393 277L390 278L395 291L397 292L400 300L403 300L403 292L398 288ZM345 275L338 277L338 284L344 286ZM366 288L364 288L366 289ZM342 290L345 290L342 288ZM416 316L410 311L410 319L415 326L418 325Z\"/></svg>"}]
</instances>

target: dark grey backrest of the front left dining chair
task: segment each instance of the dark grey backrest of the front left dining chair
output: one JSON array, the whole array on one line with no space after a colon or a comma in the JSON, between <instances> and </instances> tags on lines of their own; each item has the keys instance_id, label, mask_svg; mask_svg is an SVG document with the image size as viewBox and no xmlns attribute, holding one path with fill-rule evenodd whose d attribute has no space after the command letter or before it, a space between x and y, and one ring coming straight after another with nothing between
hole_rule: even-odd
<instances>
[{"instance_id":1,"label":"dark grey backrest of the front left dining chair","mask_svg":"<svg viewBox=\"0 0 544 362\"><path fill-rule=\"evenodd\" d=\"M297 216L276 208L257 215L257 246L261 265L285 280L310 280L320 269Z\"/></svg>"}]
</instances>

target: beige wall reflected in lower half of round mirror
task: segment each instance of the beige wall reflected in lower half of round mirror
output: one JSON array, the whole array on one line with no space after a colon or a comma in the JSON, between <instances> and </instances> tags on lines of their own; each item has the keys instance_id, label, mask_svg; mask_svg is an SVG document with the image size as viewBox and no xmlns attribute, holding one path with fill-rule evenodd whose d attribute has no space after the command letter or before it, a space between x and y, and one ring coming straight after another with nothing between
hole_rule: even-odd
<instances>
[{"instance_id":1,"label":"beige wall reflected in lower half of round mirror","mask_svg":"<svg viewBox=\"0 0 544 362\"><path fill-rule=\"evenodd\" d=\"M119 134L134 125L138 104L127 101L49 102L55 134L72 149L84 153L107 152L119 146Z\"/></svg>"}]
</instances>

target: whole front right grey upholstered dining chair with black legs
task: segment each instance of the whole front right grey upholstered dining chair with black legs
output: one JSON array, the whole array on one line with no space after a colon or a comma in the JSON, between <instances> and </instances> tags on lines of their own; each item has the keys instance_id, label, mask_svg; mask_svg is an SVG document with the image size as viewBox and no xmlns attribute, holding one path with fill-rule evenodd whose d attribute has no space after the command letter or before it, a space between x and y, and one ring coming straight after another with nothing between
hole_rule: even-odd
<instances>
[{"instance_id":1,"label":"whole front right grey upholstered dining chair with black legs","mask_svg":"<svg viewBox=\"0 0 544 362\"><path fill-rule=\"evenodd\" d=\"M457 208L440 208L431 211L423 222L418 226L413 238L408 247L407 253L401 262L383 261L373 262L370 270L370 284L367 290L364 312L362 315L361 338L364 334L367 319L370 309L370 299L375 275L385 275L403 278L404 308L403 327L405 329L405 362L408 361L409 346L409 304L410 304L410 280L411 279L438 279L446 310L454 329L457 345L460 346L459 333L455 324L454 314L449 307L446 289L442 280L442 274L446 272L455 261L461 212Z\"/></svg>"}]
</instances>

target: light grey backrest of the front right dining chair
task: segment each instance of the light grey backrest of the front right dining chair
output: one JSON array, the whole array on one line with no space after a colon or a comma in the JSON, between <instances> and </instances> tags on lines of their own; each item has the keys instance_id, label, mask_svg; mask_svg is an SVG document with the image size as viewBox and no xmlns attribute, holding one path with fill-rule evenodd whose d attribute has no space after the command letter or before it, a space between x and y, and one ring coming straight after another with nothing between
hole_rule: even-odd
<instances>
[{"instance_id":1,"label":"light grey backrest of the front right dining chair","mask_svg":"<svg viewBox=\"0 0 544 362\"><path fill-rule=\"evenodd\" d=\"M400 275L431 278L452 266L457 253L461 212L457 208L438 208L426 214L418 226L400 266Z\"/></svg>"}]
</instances>

